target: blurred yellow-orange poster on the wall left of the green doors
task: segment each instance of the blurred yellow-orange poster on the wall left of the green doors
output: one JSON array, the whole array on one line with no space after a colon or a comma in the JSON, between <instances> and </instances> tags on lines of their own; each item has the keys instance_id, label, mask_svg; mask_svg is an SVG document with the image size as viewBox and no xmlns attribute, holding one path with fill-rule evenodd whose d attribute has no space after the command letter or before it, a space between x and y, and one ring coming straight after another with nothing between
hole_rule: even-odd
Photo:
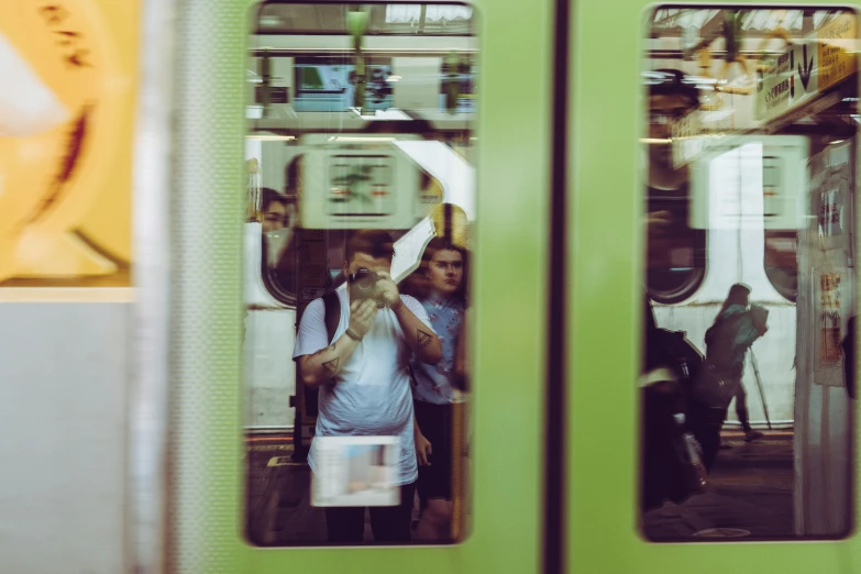
<instances>
[{"instance_id":1,"label":"blurred yellow-orange poster on the wall left of the green doors","mask_svg":"<svg viewBox=\"0 0 861 574\"><path fill-rule=\"evenodd\" d=\"M140 0L0 2L0 287L129 286Z\"/></svg>"}]
</instances>

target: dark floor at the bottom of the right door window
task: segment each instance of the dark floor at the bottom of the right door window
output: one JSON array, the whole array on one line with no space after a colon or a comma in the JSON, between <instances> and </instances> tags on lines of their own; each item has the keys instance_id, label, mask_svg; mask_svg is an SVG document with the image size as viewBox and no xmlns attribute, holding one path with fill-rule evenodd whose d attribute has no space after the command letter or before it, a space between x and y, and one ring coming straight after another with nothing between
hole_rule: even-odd
<instances>
[{"instance_id":1,"label":"dark floor at the bottom of the right door window","mask_svg":"<svg viewBox=\"0 0 861 574\"><path fill-rule=\"evenodd\" d=\"M718 454L708 489L647 512L648 539L794 538L792 431L764 431L750 443L741 432L725 432L724 439L732 449Z\"/></svg>"}]
</instances>

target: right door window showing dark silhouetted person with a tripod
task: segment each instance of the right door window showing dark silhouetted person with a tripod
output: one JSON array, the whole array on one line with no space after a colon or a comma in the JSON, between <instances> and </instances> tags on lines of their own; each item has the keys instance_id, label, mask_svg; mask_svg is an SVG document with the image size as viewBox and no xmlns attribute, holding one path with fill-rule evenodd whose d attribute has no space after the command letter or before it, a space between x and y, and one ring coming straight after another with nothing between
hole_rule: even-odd
<instances>
[{"instance_id":1,"label":"right door window showing dark silhouetted person with a tripod","mask_svg":"<svg viewBox=\"0 0 861 574\"><path fill-rule=\"evenodd\" d=\"M640 531L846 537L857 14L673 7L649 22Z\"/></svg>"}]
</instances>

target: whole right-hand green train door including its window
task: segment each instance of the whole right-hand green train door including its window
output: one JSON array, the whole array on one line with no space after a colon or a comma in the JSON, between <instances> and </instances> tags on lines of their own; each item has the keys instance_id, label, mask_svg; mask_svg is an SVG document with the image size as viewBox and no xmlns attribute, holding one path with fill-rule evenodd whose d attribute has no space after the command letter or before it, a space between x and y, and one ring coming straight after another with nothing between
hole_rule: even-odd
<instances>
[{"instance_id":1,"label":"whole right-hand green train door including its window","mask_svg":"<svg viewBox=\"0 0 861 574\"><path fill-rule=\"evenodd\" d=\"M853 571L857 13L570 30L569 571Z\"/></svg>"}]
</instances>

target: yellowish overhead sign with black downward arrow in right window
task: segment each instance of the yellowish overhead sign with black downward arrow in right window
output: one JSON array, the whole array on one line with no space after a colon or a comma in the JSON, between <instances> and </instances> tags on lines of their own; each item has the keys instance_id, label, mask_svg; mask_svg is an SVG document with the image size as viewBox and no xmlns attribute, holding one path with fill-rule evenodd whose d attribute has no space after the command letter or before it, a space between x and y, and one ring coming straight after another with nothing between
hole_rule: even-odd
<instances>
[{"instance_id":1,"label":"yellowish overhead sign with black downward arrow in right window","mask_svg":"<svg viewBox=\"0 0 861 574\"><path fill-rule=\"evenodd\" d=\"M787 47L757 70L757 119L782 115L819 92L819 48L806 41Z\"/></svg>"}]
</instances>

